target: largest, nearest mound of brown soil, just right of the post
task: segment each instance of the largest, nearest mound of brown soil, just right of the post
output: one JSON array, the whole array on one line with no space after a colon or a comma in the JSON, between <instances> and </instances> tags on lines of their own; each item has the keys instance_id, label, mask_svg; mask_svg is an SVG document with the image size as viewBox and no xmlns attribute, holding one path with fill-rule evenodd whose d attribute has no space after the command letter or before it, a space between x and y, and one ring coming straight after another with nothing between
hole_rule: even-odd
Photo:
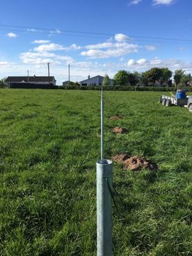
<instances>
[{"instance_id":1,"label":"largest, nearest mound of brown soil, just right of the post","mask_svg":"<svg viewBox=\"0 0 192 256\"><path fill-rule=\"evenodd\" d=\"M123 168L126 170L158 170L157 164L145 159L145 157L130 157L128 154L116 154L115 157L112 157L112 160L118 163L122 163Z\"/></svg>"}]
</instances>

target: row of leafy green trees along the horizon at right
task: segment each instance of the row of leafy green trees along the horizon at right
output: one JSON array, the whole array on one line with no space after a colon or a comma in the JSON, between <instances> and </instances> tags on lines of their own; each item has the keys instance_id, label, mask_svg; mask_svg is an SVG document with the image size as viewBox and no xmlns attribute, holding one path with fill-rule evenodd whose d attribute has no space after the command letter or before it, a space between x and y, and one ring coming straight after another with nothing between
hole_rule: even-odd
<instances>
[{"instance_id":1,"label":"row of leafy green trees along the horizon at right","mask_svg":"<svg viewBox=\"0 0 192 256\"><path fill-rule=\"evenodd\" d=\"M113 77L113 80L114 85L119 86L136 86L138 84L148 86L149 84L154 85L156 81L159 81L160 86L162 86L163 83L172 86L172 76L175 81L175 86L177 87L179 83L182 83L184 86L189 86L191 83L191 74L185 74L185 70L175 70L173 74L168 67L152 67L150 70L143 73L119 70ZM106 74L103 85L106 86L108 84L109 77Z\"/></svg>"}]
</instances>

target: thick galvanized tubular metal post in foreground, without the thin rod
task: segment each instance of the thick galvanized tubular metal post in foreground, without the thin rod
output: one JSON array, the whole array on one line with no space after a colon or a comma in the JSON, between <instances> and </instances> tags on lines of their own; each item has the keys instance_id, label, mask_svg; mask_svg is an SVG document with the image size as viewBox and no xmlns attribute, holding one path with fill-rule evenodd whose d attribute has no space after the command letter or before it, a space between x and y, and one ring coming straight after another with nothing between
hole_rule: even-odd
<instances>
[{"instance_id":1,"label":"thick galvanized tubular metal post in foreground, without the thin rod","mask_svg":"<svg viewBox=\"0 0 192 256\"><path fill-rule=\"evenodd\" d=\"M111 160L97 161L97 256L112 255L112 170Z\"/></svg>"}]
</instances>

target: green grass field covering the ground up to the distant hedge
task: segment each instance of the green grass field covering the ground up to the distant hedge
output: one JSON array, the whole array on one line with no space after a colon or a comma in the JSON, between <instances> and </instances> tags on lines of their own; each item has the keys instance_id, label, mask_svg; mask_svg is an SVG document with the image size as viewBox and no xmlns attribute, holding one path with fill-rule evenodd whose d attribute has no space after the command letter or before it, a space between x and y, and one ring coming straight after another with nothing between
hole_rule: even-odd
<instances>
[{"instance_id":1,"label":"green grass field covering the ground up to the distant hedge","mask_svg":"<svg viewBox=\"0 0 192 256\"><path fill-rule=\"evenodd\" d=\"M192 255L192 114L159 104L161 93L104 94L106 158L128 152L159 166L114 164L114 256ZM99 111L98 91L1 89L1 256L96 255Z\"/></svg>"}]
</instances>

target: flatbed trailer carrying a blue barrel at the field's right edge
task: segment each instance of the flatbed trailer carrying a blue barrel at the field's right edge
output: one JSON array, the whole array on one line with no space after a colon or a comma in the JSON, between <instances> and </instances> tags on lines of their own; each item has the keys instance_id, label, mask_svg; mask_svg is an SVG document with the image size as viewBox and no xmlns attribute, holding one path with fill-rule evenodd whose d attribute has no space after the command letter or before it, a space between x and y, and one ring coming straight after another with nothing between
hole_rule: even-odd
<instances>
[{"instance_id":1,"label":"flatbed trailer carrying a blue barrel at the field's right edge","mask_svg":"<svg viewBox=\"0 0 192 256\"><path fill-rule=\"evenodd\" d=\"M178 89L175 95L173 93L171 96L161 95L159 102L165 106L186 106L192 112L192 97L187 96L184 89Z\"/></svg>"}]
</instances>

